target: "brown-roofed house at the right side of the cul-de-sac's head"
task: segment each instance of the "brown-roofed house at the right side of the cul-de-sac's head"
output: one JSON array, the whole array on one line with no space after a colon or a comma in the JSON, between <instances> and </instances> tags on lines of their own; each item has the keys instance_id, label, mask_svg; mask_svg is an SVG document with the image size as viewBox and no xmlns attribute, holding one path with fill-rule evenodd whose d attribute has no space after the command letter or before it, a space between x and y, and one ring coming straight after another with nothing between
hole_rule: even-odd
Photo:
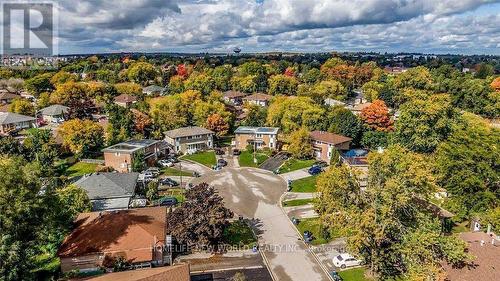
<instances>
[{"instance_id":1,"label":"brown-roofed house at the right side of the cul-de-sac's head","mask_svg":"<svg viewBox=\"0 0 500 281\"><path fill-rule=\"evenodd\" d=\"M310 133L314 149L314 157L318 160L330 163L333 150L349 150L351 138L324 131L312 131Z\"/></svg>"}]
</instances>

